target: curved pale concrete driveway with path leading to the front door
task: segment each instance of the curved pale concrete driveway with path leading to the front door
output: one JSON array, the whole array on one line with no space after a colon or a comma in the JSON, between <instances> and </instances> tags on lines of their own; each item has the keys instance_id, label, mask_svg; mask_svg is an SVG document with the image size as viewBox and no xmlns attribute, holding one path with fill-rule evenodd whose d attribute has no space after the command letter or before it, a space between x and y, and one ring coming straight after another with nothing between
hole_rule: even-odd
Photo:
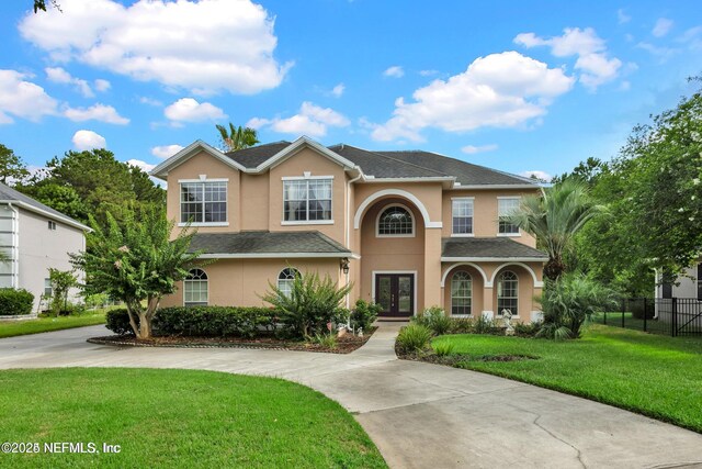
<instances>
[{"instance_id":1,"label":"curved pale concrete driveway with path leading to the front door","mask_svg":"<svg viewBox=\"0 0 702 469\"><path fill-rule=\"evenodd\" d=\"M148 367L262 375L355 414L396 468L702 468L702 435L474 371L397 360L399 324L349 355L111 347L102 326L0 339L0 368Z\"/></svg>"}]
</instances>

